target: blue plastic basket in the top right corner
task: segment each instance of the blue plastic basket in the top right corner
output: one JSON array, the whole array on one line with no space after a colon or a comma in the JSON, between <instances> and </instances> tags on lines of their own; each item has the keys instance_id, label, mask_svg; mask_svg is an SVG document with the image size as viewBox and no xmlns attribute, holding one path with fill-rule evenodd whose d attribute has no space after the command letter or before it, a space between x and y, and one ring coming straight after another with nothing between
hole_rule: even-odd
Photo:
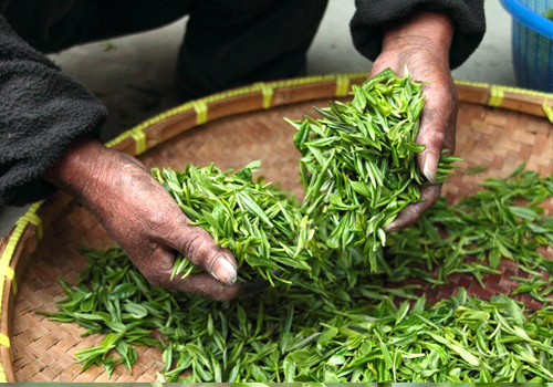
<instances>
[{"instance_id":1,"label":"blue plastic basket in the top right corner","mask_svg":"<svg viewBox=\"0 0 553 387\"><path fill-rule=\"evenodd\" d=\"M553 92L553 0L500 0L513 18L513 64L520 87Z\"/></svg>"}]
</instances>

